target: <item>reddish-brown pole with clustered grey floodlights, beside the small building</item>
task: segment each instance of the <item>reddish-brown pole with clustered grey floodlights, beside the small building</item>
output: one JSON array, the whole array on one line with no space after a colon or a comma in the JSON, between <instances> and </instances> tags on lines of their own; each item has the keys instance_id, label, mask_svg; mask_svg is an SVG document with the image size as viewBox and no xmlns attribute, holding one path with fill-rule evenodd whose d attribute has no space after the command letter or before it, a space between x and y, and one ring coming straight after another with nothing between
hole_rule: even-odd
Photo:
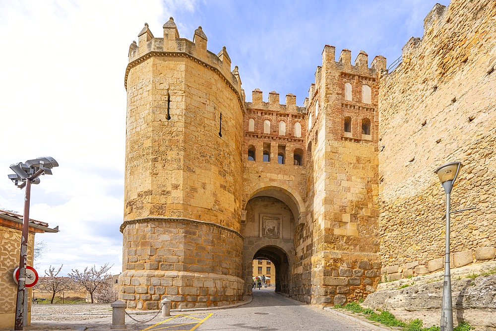
<instances>
[{"instance_id":1,"label":"reddish-brown pole with clustered grey floodlights, beside the small building","mask_svg":"<svg viewBox=\"0 0 496 331\"><path fill-rule=\"evenodd\" d=\"M19 282L17 284L17 300L15 305L14 330L22 330L24 321L27 321L26 300L26 265L29 230L29 202L31 197L31 184L39 184L41 175L51 175L52 168L58 167L59 163L53 157L39 157L27 160L25 163L16 163L10 166L15 174L8 175L18 188L26 188L24 191L24 215L22 222L21 250L19 257Z\"/></svg>"}]
</instances>

